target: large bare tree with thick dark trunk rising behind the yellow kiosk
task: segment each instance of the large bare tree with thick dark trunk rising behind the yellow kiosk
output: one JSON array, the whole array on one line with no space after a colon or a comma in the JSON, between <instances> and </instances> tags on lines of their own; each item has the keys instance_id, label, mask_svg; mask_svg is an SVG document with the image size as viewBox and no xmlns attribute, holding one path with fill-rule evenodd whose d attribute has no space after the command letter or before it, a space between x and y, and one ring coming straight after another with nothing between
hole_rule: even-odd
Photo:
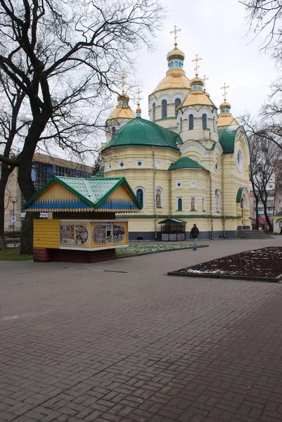
<instances>
[{"instance_id":1,"label":"large bare tree with thick dark trunk rising behind the yellow kiosk","mask_svg":"<svg viewBox=\"0 0 282 422\"><path fill-rule=\"evenodd\" d=\"M30 124L18 156L0 161L18 167L25 199L34 193L32 158L39 141L54 139L79 155L89 151L98 110L115 91L132 52L160 27L155 0L0 0L0 68L28 99ZM90 140L91 141L91 140ZM23 225L22 252L32 252L32 226Z\"/></svg>"}]
</instances>

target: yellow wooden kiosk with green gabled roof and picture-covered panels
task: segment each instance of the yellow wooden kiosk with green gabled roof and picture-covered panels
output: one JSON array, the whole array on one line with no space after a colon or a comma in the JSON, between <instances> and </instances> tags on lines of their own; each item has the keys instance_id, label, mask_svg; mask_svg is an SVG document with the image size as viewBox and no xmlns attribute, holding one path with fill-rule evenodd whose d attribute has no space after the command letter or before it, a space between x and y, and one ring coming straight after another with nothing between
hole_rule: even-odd
<instances>
[{"instance_id":1,"label":"yellow wooden kiosk with green gabled roof and picture-covered panels","mask_svg":"<svg viewBox=\"0 0 282 422\"><path fill-rule=\"evenodd\" d=\"M23 206L48 212L34 219L34 261L99 262L115 259L128 246L127 220L115 213L139 212L141 205L124 177L53 177Z\"/></svg>"}]
</instances>

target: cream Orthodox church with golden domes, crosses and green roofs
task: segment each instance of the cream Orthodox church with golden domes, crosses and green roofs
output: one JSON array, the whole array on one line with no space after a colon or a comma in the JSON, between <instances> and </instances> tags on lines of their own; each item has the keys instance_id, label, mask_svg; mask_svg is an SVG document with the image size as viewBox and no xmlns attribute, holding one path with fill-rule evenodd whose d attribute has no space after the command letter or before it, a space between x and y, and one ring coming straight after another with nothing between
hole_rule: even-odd
<instances>
[{"instance_id":1,"label":"cream Orthodox church with golden domes, crosses and green roofs","mask_svg":"<svg viewBox=\"0 0 282 422\"><path fill-rule=\"evenodd\" d=\"M131 240L180 240L197 224L200 238L233 238L250 229L248 166L250 154L243 127L231 105L217 106L205 89L205 78L188 79L184 52L167 53L167 73L148 97L150 120L117 97L106 121L103 177L126 177L142 210L119 217L129 220Z\"/></svg>"}]
</instances>

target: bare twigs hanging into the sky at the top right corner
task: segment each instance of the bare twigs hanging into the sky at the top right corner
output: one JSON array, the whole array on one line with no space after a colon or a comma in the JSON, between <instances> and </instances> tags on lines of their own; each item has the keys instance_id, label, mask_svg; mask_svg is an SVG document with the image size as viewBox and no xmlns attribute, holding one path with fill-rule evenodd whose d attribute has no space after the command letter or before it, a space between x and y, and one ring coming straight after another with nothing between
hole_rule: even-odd
<instances>
[{"instance_id":1,"label":"bare twigs hanging into the sky at the top right corner","mask_svg":"<svg viewBox=\"0 0 282 422\"><path fill-rule=\"evenodd\" d=\"M240 0L245 6L250 31L264 36L261 50L271 51L274 59L279 63L282 58L282 1L281 0Z\"/></svg>"}]
</instances>

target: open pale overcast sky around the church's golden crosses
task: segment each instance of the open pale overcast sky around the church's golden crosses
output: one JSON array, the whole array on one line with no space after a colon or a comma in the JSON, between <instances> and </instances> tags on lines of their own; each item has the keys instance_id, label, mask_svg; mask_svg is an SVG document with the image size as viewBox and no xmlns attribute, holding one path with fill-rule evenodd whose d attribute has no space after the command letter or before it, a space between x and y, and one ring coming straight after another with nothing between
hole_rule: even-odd
<instances>
[{"instance_id":1,"label":"open pale overcast sky around the church's golden crosses","mask_svg":"<svg viewBox=\"0 0 282 422\"><path fill-rule=\"evenodd\" d=\"M246 37L248 23L245 8L238 0L160 0L167 8L165 28L154 39L155 51L141 50L136 60L136 78L142 82L142 117L148 119L148 94L155 89L167 71L166 55L174 47L170 31L174 25L181 28L178 47L185 53L184 71L194 77L196 54L199 76L207 75L207 92L219 107L224 82L229 85L227 101L234 117L247 110L257 113L267 99L269 84L278 71L270 57L259 53L262 37L253 42L252 34ZM136 105L130 105L135 111Z\"/></svg>"}]
</instances>

